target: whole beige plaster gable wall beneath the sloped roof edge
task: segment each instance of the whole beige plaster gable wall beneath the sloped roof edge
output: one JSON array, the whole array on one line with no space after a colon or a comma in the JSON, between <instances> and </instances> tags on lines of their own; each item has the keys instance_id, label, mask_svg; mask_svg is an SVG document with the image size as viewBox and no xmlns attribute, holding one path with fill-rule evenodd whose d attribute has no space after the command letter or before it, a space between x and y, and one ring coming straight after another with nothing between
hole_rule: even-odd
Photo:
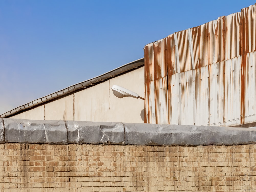
<instances>
[{"instance_id":1,"label":"whole beige plaster gable wall beneath the sloped roof edge","mask_svg":"<svg viewBox=\"0 0 256 192\"><path fill-rule=\"evenodd\" d=\"M114 84L144 97L144 67L10 118L144 123L144 101L115 97Z\"/></svg>"}]
</instances>

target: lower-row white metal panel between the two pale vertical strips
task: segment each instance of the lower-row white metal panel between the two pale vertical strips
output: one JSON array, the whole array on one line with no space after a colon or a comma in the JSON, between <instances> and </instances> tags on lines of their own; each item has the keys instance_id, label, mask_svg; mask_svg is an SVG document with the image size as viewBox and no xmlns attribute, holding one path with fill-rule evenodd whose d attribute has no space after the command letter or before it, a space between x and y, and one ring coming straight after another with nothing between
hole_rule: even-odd
<instances>
[{"instance_id":1,"label":"lower-row white metal panel between the two pale vertical strips","mask_svg":"<svg viewBox=\"0 0 256 192\"><path fill-rule=\"evenodd\" d=\"M180 124L193 125L193 79L192 70L180 73L181 76L181 100L180 100Z\"/></svg>"}]
</instances>

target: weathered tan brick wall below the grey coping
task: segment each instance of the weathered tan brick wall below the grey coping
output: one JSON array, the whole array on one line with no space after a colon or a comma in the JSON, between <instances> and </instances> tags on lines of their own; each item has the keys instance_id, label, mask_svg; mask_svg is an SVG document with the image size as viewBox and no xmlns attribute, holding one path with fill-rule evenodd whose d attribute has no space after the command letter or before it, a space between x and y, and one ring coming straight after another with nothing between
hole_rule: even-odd
<instances>
[{"instance_id":1,"label":"weathered tan brick wall below the grey coping","mask_svg":"<svg viewBox=\"0 0 256 192\"><path fill-rule=\"evenodd\" d=\"M256 145L0 144L0 191L254 191Z\"/></svg>"}]
</instances>

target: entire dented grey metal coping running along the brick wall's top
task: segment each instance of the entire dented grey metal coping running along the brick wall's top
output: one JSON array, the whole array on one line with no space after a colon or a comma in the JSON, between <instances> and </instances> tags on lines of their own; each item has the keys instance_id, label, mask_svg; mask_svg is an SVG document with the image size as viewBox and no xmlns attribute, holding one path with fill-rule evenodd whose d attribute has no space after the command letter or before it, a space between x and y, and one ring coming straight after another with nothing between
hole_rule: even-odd
<instances>
[{"instance_id":1,"label":"entire dented grey metal coping running along the brick wall's top","mask_svg":"<svg viewBox=\"0 0 256 192\"><path fill-rule=\"evenodd\" d=\"M256 127L210 127L0 118L0 143L239 145L256 143Z\"/></svg>"}]
</instances>

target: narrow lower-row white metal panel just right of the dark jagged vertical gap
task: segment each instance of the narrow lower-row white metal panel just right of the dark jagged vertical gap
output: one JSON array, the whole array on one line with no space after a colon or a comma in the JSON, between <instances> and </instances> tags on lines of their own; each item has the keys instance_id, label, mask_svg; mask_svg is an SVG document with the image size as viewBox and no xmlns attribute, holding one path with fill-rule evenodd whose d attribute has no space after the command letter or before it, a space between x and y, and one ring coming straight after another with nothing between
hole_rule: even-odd
<instances>
[{"instance_id":1,"label":"narrow lower-row white metal panel just right of the dark jagged vertical gap","mask_svg":"<svg viewBox=\"0 0 256 192\"><path fill-rule=\"evenodd\" d=\"M179 77L180 73L175 73L171 76L168 76L168 124L179 124L179 111L180 111L180 102L179 102Z\"/></svg>"}]
</instances>

